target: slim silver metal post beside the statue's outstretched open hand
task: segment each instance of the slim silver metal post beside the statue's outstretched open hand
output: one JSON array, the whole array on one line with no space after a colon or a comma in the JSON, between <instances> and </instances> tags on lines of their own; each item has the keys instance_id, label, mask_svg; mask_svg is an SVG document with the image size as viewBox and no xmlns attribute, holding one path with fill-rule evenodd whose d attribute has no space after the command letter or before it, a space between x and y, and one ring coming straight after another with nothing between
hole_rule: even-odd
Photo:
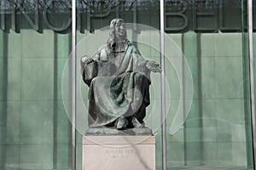
<instances>
[{"instance_id":1,"label":"slim silver metal post beside the statue's outstretched open hand","mask_svg":"<svg viewBox=\"0 0 256 170\"><path fill-rule=\"evenodd\" d=\"M166 79L165 79L165 8L160 0L160 52L161 52L161 121L162 121L162 166L166 170Z\"/></svg>"}]
</instances>

